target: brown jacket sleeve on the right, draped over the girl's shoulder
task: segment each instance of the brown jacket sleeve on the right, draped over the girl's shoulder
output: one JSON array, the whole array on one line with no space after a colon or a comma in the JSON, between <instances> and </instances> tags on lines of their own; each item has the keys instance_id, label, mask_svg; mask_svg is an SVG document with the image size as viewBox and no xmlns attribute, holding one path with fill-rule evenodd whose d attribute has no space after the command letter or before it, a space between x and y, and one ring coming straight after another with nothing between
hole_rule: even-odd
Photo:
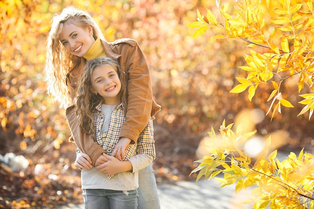
<instances>
[{"instance_id":1,"label":"brown jacket sleeve on the right, draped over the girl's shoulder","mask_svg":"<svg viewBox=\"0 0 314 209\"><path fill-rule=\"evenodd\" d=\"M134 41L135 42L135 41ZM152 105L150 76L145 57L137 45L121 43L115 47L121 51L120 65L125 69L127 81L127 112L120 137L137 141L139 133L148 123Z\"/></svg>"}]
</instances>

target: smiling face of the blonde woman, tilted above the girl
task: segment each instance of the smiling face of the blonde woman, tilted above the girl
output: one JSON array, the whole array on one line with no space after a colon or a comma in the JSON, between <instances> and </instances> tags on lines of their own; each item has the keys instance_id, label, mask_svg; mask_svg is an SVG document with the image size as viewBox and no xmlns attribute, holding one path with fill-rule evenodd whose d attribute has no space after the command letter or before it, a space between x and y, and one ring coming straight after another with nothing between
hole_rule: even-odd
<instances>
[{"instance_id":1,"label":"smiling face of the blonde woman, tilted above the girl","mask_svg":"<svg viewBox=\"0 0 314 209\"><path fill-rule=\"evenodd\" d=\"M91 26L81 28L67 21L63 24L59 39L70 54L83 57L95 42L92 32Z\"/></svg>"}]
</instances>

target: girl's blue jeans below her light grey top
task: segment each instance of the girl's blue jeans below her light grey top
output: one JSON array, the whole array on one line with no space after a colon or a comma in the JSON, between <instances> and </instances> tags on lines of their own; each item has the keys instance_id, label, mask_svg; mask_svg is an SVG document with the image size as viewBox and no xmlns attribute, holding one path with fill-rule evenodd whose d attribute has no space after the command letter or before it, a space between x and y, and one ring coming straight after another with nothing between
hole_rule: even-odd
<instances>
[{"instance_id":1,"label":"girl's blue jeans below her light grey top","mask_svg":"<svg viewBox=\"0 0 314 209\"><path fill-rule=\"evenodd\" d=\"M85 209L136 209L137 190L83 189Z\"/></svg>"}]
</instances>

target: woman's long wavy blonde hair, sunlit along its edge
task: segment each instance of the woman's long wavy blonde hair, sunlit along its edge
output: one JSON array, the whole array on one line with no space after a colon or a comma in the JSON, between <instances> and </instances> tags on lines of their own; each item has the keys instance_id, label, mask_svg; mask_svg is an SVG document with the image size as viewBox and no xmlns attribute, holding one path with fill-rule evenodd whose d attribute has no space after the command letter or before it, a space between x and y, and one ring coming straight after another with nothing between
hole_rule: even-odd
<instances>
[{"instance_id":1,"label":"woman's long wavy blonde hair, sunlit along its edge","mask_svg":"<svg viewBox=\"0 0 314 209\"><path fill-rule=\"evenodd\" d=\"M47 83L47 93L64 108L73 103L73 98L69 93L71 89L66 83L67 73L81 62L80 57L71 55L65 50L59 39L64 23L68 20L83 29L91 26L94 39L96 40L99 37L105 40L98 24L85 11L68 7L63 9L60 15L55 14L52 17L52 25L47 38L44 80Z\"/></svg>"}]
</instances>

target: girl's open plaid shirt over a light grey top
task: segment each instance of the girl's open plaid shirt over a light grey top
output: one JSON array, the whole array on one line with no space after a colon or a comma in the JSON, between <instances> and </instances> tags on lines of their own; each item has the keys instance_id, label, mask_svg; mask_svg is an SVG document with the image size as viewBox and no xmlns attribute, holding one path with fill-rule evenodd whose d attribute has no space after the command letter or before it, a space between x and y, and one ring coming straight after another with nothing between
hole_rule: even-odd
<instances>
[{"instance_id":1,"label":"girl's open plaid shirt over a light grey top","mask_svg":"<svg viewBox=\"0 0 314 209\"><path fill-rule=\"evenodd\" d=\"M104 122L104 115L101 111L100 102L93 114L94 114L94 123L95 131L96 131L96 140L100 146L105 150L105 153L111 155L115 145L119 141L119 133L121 130L121 126L125 121L124 113L123 113L123 105L118 105L113 112L111 113L111 119L109 124L109 130L107 133L101 133L101 127ZM153 139L153 125L152 119L149 118L148 124L143 129L143 131L139 134L137 142L134 144L130 144L125 152L125 160L135 156L136 154L148 154L155 159L155 146ZM112 178L113 175L108 176L109 179Z\"/></svg>"}]
</instances>

